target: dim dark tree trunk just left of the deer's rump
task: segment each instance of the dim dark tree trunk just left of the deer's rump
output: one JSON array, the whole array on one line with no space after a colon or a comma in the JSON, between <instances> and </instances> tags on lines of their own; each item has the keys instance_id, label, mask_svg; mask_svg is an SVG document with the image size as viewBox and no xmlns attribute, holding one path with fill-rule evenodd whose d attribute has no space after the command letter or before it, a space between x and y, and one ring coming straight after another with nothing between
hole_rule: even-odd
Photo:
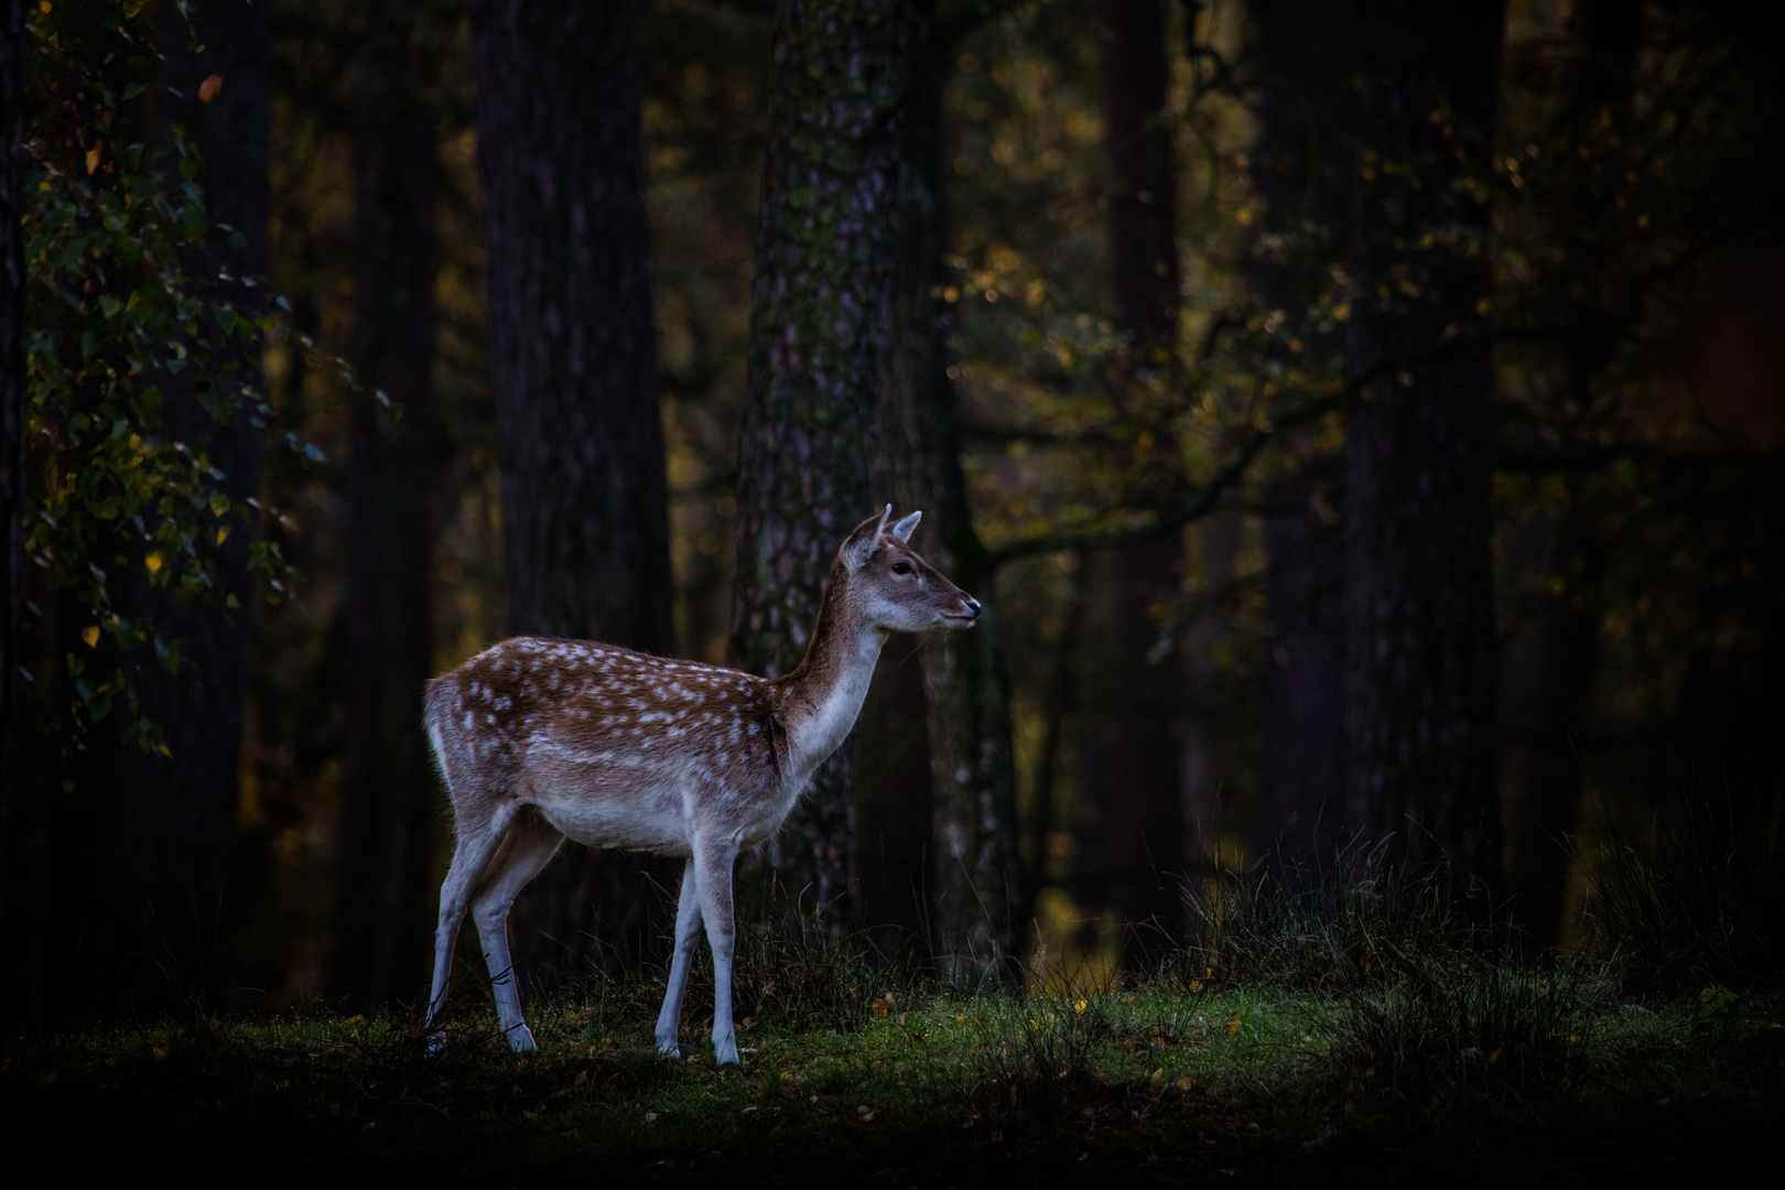
<instances>
[{"instance_id":1,"label":"dim dark tree trunk just left of the deer's rump","mask_svg":"<svg viewBox=\"0 0 1785 1190\"><path fill-rule=\"evenodd\" d=\"M355 109L359 289L353 366L391 396L353 405L348 464L346 771L336 869L336 999L414 992L432 953L436 785L421 733L432 673L434 207L441 166L428 80L402 21L382 21Z\"/></svg>"}]
</instances>

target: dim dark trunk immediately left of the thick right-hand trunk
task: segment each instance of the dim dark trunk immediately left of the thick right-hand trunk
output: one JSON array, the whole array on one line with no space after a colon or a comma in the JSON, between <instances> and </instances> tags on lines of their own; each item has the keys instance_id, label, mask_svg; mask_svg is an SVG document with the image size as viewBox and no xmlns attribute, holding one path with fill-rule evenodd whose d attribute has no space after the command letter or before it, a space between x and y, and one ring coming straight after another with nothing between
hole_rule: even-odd
<instances>
[{"instance_id":1,"label":"dim dark trunk immediately left of the thick right-hand trunk","mask_svg":"<svg viewBox=\"0 0 1785 1190\"><path fill-rule=\"evenodd\" d=\"M1251 178L1264 198L1262 236L1308 228L1346 246L1341 145L1353 21L1321 0L1253 0L1258 71ZM1269 309L1305 310L1326 282L1326 253L1269 252L1253 282ZM1287 351L1285 351L1287 355ZM1307 437L1292 437L1301 451ZM1335 460L1310 457L1278 480L1266 514L1269 640L1260 690L1260 853L1314 858L1344 831L1344 544L1332 523L1337 494L1317 501Z\"/></svg>"}]
</instances>

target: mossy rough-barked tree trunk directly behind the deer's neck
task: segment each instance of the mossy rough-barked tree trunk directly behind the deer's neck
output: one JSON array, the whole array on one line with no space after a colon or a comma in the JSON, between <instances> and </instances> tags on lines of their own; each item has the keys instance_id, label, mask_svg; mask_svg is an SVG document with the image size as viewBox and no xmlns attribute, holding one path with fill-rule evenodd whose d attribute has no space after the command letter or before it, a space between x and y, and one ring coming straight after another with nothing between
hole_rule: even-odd
<instances>
[{"instance_id":1,"label":"mossy rough-barked tree trunk directly behind the deer's neck","mask_svg":"<svg viewBox=\"0 0 1785 1190\"><path fill-rule=\"evenodd\" d=\"M871 510L903 21L898 0L782 0L775 14L732 596L732 660L768 676L800 662L830 560ZM834 930L850 915L853 774L851 739L771 840L787 887Z\"/></svg>"}]
</instances>

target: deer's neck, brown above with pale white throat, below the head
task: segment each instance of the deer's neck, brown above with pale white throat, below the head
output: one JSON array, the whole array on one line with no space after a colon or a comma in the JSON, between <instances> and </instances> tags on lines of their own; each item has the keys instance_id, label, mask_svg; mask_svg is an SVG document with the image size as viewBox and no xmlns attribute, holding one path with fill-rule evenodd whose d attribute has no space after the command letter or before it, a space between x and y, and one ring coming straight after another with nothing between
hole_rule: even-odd
<instances>
[{"instance_id":1,"label":"deer's neck, brown above with pale white throat, below the head","mask_svg":"<svg viewBox=\"0 0 1785 1190\"><path fill-rule=\"evenodd\" d=\"M787 776L796 789L850 735L868 698L880 646L887 639L885 628L853 614L850 601L839 598L837 587L832 576L818 607L818 624L805 660L778 683L780 719L787 731Z\"/></svg>"}]
</instances>

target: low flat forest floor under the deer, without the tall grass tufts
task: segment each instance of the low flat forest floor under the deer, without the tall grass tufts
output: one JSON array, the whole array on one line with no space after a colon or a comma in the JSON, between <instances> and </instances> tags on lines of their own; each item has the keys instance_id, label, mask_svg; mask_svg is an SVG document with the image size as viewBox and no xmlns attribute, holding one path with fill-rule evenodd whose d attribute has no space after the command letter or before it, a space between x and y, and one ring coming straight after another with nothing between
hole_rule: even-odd
<instances>
[{"instance_id":1,"label":"low flat forest floor under the deer, without the tall grass tufts","mask_svg":"<svg viewBox=\"0 0 1785 1190\"><path fill-rule=\"evenodd\" d=\"M0 1111L62 1178L1776 1185L1781 994L1585 996L1482 1053L1458 1047L1480 1017L1187 987L882 994L832 1024L746 1019L741 1069L694 1028L659 1058L648 987L541 1004L527 1056L475 996L437 1056L402 1015L12 1031Z\"/></svg>"}]
</instances>

